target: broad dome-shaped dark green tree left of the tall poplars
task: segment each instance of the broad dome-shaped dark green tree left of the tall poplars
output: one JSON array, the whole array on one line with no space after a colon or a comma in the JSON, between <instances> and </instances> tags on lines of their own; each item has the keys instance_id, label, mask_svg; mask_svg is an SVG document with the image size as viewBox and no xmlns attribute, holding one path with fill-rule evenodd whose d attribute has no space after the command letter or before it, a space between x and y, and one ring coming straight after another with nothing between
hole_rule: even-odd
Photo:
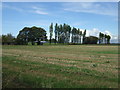
<instances>
[{"instance_id":1,"label":"broad dome-shaped dark green tree left of the tall poplars","mask_svg":"<svg viewBox=\"0 0 120 90\"><path fill-rule=\"evenodd\" d=\"M46 40L46 31L43 28L40 27L25 27L23 28L18 36L17 36L17 43L18 44L28 44L28 42L31 42L33 45L35 44L35 41L42 41Z\"/></svg>"}]
</instances>

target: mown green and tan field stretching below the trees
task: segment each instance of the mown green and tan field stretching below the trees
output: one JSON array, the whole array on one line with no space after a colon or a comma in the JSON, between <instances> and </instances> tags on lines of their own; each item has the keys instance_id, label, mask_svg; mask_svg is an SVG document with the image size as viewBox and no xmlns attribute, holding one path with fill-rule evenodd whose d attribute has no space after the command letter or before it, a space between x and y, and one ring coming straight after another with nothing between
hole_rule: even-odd
<instances>
[{"instance_id":1,"label":"mown green and tan field stretching below the trees","mask_svg":"<svg viewBox=\"0 0 120 90\"><path fill-rule=\"evenodd\" d=\"M3 88L117 88L118 46L3 46Z\"/></svg>"}]
</instances>

